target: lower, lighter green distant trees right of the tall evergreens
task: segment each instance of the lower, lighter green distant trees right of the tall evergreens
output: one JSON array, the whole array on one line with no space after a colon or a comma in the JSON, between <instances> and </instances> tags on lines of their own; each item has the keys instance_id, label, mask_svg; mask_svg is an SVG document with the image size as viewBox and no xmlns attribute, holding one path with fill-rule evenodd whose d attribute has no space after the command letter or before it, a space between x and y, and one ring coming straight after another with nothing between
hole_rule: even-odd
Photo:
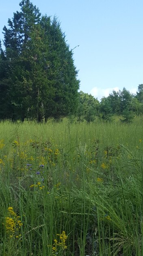
<instances>
[{"instance_id":1,"label":"lower, lighter green distant trees right of the tall evergreens","mask_svg":"<svg viewBox=\"0 0 143 256\"><path fill-rule=\"evenodd\" d=\"M143 114L143 84L138 86L136 94L126 88L116 92L113 90L108 97L102 97L99 102L91 94L79 92L78 121L94 121L96 117L110 121L112 115L122 116L121 121L130 122L134 115Z\"/></svg>"}]
</instances>

